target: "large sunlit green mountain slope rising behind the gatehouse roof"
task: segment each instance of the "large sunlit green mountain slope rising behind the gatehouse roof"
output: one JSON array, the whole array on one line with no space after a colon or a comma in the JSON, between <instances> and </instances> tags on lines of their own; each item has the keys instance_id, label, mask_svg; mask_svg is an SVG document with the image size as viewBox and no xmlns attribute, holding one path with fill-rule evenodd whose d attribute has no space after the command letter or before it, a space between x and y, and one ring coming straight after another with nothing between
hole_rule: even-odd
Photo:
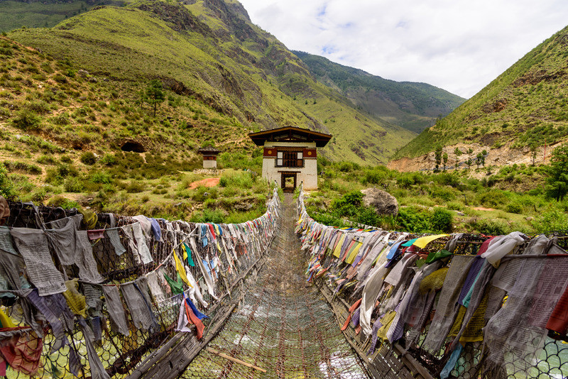
<instances>
[{"instance_id":1,"label":"large sunlit green mountain slope rising behind the gatehouse roof","mask_svg":"<svg viewBox=\"0 0 568 379\"><path fill-rule=\"evenodd\" d=\"M332 159L385 163L413 138L317 83L282 43L253 26L237 1L187 2L94 7L55 28L9 37L117 82L159 78L248 129L293 124L332 133L322 151Z\"/></svg>"}]
</instances>

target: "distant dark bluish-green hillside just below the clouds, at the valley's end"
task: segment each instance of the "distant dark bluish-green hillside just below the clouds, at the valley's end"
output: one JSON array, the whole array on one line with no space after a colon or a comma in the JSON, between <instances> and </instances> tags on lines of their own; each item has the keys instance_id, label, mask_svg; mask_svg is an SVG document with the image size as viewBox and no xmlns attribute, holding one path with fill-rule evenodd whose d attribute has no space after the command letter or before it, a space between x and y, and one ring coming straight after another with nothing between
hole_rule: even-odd
<instances>
[{"instance_id":1,"label":"distant dark bluish-green hillside just below the clouds, at the valley's end","mask_svg":"<svg viewBox=\"0 0 568 379\"><path fill-rule=\"evenodd\" d=\"M294 51L318 82L339 90L371 116L420 133L465 99L426 83L395 82L327 58Z\"/></svg>"}]
</instances>

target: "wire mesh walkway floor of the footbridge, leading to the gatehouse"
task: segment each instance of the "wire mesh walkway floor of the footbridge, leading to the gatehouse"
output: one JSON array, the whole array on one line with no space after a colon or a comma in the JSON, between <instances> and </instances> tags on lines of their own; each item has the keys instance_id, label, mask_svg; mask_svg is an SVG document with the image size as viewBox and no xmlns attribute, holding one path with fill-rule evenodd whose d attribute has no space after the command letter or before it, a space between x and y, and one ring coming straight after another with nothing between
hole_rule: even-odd
<instances>
[{"instance_id":1,"label":"wire mesh walkway floor of the footbridge, leading to the gatehouse","mask_svg":"<svg viewBox=\"0 0 568 379\"><path fill-rule=\"evenodd\" d=\"M368 378L329 305L305 281L295 207L285 196L283 222L258 280L243 288L238 312L182 378Z\"/></svg>"}]
</instances>

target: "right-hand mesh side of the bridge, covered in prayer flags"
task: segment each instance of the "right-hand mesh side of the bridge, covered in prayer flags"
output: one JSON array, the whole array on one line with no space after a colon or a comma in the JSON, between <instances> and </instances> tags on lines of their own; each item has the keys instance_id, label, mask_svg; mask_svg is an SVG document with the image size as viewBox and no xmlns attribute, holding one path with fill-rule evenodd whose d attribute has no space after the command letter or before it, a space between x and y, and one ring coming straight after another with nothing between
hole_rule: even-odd
<instances>
[{"instance_id":1,"label":"right-hand mesh side of the bridge, covered in prayer flags","mask_svg":"<svg viewBox=\"0 0 568 379\"><path fill-rule=\"evenodd\" d=\"M374 378L568 378L566 231L340 231L311 219L302 198L308 278Z\"/></svg>"}]
</instances>

